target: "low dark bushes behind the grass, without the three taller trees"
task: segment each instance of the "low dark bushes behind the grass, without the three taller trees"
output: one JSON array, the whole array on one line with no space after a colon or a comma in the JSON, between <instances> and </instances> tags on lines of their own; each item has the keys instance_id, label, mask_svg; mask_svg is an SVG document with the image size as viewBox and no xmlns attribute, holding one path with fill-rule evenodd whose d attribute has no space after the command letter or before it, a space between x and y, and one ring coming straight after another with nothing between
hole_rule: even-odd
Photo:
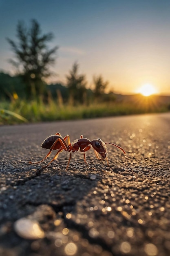
<instances>
[{"instance_id":1,"label":"low dark bushes behind the grass, without the three taller trees","mask_svg":"<svg viewBox=\"0 0 170 256\"><path fill-rule=\"evenodd\" d=\"M100 77L101 79L101 77ZM47 85L45 83L44 95L41 97L44 98L44 101L48 97L56 99L60 103L91 103L93 101L106 102L106 101L115 101L115 94L113 92L105 93L101 88L90 88L84 87L77 88L75 86L75 92L72 92L67 85L56 83ZM81 95L82 94L82 95ZM76 96L77 95L77 96ZM20 75L11 76L7 73L0 72L0 100L14 100L14 99L27 99L27 90L26 84L23 82L23 79Z\"/></svg>"}]
</instances>

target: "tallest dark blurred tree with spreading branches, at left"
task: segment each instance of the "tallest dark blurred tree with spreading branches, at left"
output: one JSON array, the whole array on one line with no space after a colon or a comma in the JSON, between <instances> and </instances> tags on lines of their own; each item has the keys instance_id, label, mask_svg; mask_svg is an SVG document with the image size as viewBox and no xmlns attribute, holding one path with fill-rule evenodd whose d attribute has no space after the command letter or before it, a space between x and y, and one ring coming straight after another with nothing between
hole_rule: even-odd
<instances>
[{"instance_id":1,"label":"tallest dark blurred tree with spreading branches, at left","mask_svg":"<svg viewBox=\"0 0 170 256\"><path fill-rule=\"evenodd\" d=\"M16 58L11 60L11 63L18 68L29 97L44 94L44 79L51 75L49 65L55 62L54 54L58 49L57 46L52 49L47 47L47 42L53 39L53 34L42 35L39 23L33 19L29 29L25 27L24 22L19 21L16 36L18 43L7 38Z\"/></svg>"}]
</instances>

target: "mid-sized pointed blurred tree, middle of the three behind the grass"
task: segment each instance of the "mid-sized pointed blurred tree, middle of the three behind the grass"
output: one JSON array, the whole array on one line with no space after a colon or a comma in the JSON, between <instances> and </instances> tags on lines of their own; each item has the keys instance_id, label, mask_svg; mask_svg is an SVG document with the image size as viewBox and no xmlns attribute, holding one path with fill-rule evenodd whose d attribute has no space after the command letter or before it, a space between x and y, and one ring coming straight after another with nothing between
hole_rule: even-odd
<instances>
[{"instance_id":1,"label":"mid-sized pointed blurred tree, middle of the three behind the grass","mask_svg":"<svg viewBox=\"0 0 170 256\"><path fill-rule=\"evenodd\" d=\"M70 103L85 103L86 101L86 77L77 74L78 67L79 65L75 62L70 74L66 76Z\"/></svg>"}]
</instances>

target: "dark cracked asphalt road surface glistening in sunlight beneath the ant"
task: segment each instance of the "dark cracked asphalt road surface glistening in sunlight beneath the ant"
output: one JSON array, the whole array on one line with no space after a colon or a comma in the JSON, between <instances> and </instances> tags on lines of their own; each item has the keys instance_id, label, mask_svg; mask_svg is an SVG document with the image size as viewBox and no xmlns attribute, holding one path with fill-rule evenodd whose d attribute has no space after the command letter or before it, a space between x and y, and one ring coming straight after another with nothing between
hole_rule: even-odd
<instances>
[{"instance_id":1,"label":"dark cracked asphalt road surface glistening in sunlight beneath the ant","mask_svg":"<svg viewBox=\"0 0 170 256\"><path fill-rule=\"evenodd\" d=\"M29 164L56 132L126 155L108 144L110 166L92 149L67 171L65 151L46 169ZM170 113L1 126L0 255L170 255Z\"/></svg>"}]
</instances>

